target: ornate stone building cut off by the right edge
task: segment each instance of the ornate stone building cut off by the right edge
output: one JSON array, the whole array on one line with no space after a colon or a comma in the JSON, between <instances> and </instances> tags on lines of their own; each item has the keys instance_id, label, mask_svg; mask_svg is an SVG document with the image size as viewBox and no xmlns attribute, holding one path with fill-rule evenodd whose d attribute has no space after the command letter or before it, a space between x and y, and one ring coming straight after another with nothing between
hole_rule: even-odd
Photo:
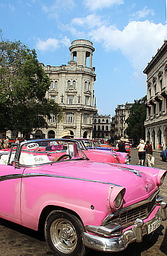
<instances>
[{"instance_id":1,"label":"ornate stone building cut off by the right edge","mask_svg":"<svg viewBox=\"0 0 167 256\"><path fill-rule=\"evenodd\" d=\"M154 148L164 143L167 146L167 41L148 63L144 74L147 75L147 116L146 140L152 142Z\"/></svg>"}]
</instances>

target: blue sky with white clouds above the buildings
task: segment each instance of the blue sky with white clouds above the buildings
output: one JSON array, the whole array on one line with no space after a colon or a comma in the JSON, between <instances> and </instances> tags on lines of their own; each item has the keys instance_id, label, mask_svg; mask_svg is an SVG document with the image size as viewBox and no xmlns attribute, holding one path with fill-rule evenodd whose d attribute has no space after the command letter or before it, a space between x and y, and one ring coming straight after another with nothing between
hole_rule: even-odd
<instances>
[{"instance_id":1,"label":"blue sky with white clouds above the buildings","mask_svg":"<svg viewBox=\"0 0 167 256\"><path fill-rule=\"evenodd\" d=\"M35 49L45 66L67 65L73 40L96 49L98 114L146 95L143 73L167 40L167 0L0 0L3 38Z\"/></svg>"}]
</instances>

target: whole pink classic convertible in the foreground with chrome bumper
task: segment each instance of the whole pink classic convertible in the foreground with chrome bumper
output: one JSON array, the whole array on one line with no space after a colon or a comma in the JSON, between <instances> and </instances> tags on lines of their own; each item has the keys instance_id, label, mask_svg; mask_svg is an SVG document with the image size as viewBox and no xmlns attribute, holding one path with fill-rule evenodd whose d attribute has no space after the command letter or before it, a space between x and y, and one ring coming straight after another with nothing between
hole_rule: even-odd
<instances>
[{"instance_id":1,"label":"whole pink classic convertible in the foreground with chrome bumper","mask_svg":"<svg viewBox=\"0 0 167 256\"><path fill-rule=\"evenodd\" d=\"M75 140L12 144L0 171L0 217L43 230L53 255L122 251L166 220L165 170L90 161Z\"/></svg>"}]
</instances>

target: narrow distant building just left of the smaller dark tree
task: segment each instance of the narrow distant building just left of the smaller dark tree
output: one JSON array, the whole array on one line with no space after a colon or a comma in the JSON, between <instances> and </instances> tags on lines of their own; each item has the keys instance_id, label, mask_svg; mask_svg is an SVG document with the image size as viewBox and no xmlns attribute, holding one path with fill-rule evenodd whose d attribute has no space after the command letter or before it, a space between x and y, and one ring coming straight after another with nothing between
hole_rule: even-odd
<instances>
[{"instance_id":1,"label":"narrow distant building just left of the smaller dark tree","mask_svg":"<svg viewBox=\"0 0 167 256\"><path fill-rule=\"evenodd\" d=\"M118 105L115 112L116 115L114 116L114 137L117 138L128 138L126 135L126 128L128 128L128 124L126 124L126 119L130 115L130 108L132 108L134 103L126 103L125 105Z\"/></svg>"}]
</instances>

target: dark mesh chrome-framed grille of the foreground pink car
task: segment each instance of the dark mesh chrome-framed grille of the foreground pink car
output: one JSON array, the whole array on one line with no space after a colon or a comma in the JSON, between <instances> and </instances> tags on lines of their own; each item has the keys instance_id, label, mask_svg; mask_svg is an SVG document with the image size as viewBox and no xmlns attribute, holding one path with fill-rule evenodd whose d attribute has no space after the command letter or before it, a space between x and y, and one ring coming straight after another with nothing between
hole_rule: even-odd
<instances>
[{"instance_id":1,"label":"dark mesh chrome-framed grille of the foreground pink car","mask_svg":"<svg viewBox=\"0 0 167 256\"><path fill-rule=\"evenodd\" d=\"M155 207L156 197L154 197L151 202L120 213L119 218L122 220L122 227L126 228L127 226L134 224L136 218L141 218L142 220L148 218Z\"/></svg>"}]
</instances>

